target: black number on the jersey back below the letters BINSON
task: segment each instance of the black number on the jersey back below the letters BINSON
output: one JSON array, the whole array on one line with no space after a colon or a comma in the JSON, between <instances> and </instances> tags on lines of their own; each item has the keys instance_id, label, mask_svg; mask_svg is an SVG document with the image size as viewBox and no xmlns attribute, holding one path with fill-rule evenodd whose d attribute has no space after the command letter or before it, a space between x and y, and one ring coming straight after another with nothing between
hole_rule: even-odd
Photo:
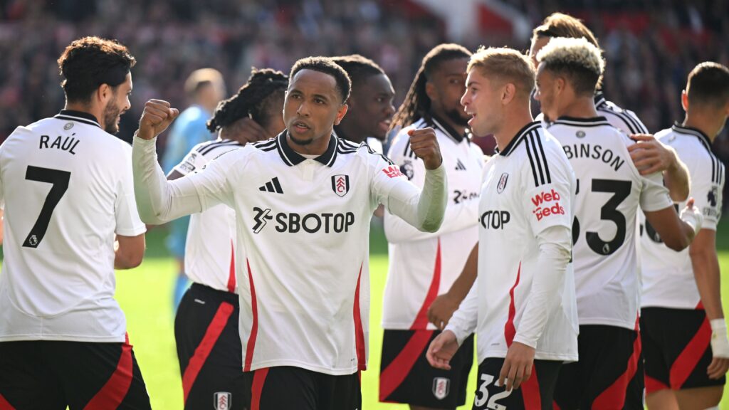
<instances>
[{"instance_id":1,"label":"black number on the jersey back below the letters BINSON","mask_svg":"<svg viewBox=\"0 0 729 410\"><path fill-rule=\"evenodd\" d=\"M577 182L577 186L580 183ZM603 241L600 239L598 232L585 232L585 240L588 241L588 246L593 252L598 255L612 255L621 245L625 242L625 215L617 210L617 207L625 201L631 194L631 187L633 182L631 181L618 181L616 179L593 179L592 180L592 192L601 193L612 193L612 197L601 207L600 219L609 220L615 223L617 228L615 231L615 238L610 241ZM578 188L579 190L579 188ZM580 239L580 220L577 220L577 215L574 217L572 223L572 244L577 244L577 240Z\"/></svg>"}]
</instances>

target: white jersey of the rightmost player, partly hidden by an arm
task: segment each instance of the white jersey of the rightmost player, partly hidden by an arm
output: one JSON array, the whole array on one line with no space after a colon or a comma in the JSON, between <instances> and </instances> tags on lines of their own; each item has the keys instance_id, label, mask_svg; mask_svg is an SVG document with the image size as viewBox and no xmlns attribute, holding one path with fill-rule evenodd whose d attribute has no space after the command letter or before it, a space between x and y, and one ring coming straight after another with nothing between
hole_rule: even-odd
<instances>
[{"instance_id":1,"label":"white jersey of the rightmost player, partly hidden by an arm","mask_svg":"<svg viewBox=\"0 0 729 410\"><path fill-rule=\"evenodd\" d=\"M712 142L696 128L674 125L660 131L655 137L679 155L686 164L691 187L688 197L703 214L701 229L716 231L722 212L724 192L724 164L712 153ZM677 204L683 209L686 202ZM645 223L641 238L643 263L643 294L641 306L674 309L695 309L701 301L693 275L689 250L675 252L668 249L660 236Z\"/></svg>"}]
</instances>

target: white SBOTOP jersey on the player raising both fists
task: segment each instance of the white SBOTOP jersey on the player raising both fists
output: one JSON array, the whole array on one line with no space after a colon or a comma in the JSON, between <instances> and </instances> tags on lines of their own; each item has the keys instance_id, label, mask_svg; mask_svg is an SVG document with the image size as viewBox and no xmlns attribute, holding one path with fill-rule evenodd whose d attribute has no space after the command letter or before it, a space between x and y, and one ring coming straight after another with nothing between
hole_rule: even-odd
<instances>
[{"instance_id":1,"label":"white SBOTOP jersey on the player raising both fists","mask_svg":"<svg viewBox=\"0 0 729 410\"><path fill-rule=\"evenodd\" d=\"M332 135L305 158L286 131L190 175L203 210L235 209L243 370L353 374L367 363L370 219L413 186L390 160Z\"/></svg>"}]
</instances>

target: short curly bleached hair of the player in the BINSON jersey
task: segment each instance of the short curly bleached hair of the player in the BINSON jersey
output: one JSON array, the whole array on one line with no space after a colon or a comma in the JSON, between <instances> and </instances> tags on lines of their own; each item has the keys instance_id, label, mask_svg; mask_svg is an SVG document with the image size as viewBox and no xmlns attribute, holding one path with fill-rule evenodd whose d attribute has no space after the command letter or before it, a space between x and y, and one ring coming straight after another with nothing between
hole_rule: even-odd
<instances>
[{"instance_id":1,"label":"short curly bleached hair of the player in the BINSON jersey","mask_svg":"<svg viewBox=\"0 0 729 410\"><path fill-rule=\"evenodd\" d=\"M605 71L600 49L585 38L551 39L537 53L537 61L545 70L564 75L578 95L593 95Z\"/></svg>"}]
</instances>

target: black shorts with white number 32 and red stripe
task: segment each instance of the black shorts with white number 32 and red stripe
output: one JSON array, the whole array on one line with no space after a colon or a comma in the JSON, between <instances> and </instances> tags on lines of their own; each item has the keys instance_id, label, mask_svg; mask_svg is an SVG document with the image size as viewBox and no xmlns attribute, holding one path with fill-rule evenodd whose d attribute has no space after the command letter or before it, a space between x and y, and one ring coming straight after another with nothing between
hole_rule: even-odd
<instances>
[{"instance_id":1,"label":"black shorts with white number 32 and red stripe","mask_svg":"<svg viewBox=\"0 0 729 410\"><path fill-rule=\"evenodd\" d=\"M554 387L562 367L561 361L534 360L531 377L516 390L506 391L499 382L504 359L488 357L478 366L473 410L552 410Z\"/></svg>"}]
</instances>

